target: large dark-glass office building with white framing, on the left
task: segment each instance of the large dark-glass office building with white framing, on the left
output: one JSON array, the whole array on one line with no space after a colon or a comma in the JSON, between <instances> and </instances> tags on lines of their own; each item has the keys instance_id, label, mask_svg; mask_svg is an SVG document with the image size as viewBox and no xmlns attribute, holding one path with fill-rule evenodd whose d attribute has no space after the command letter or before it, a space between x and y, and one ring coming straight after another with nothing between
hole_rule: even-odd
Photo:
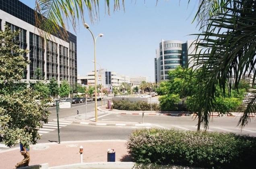
<instances>
[{"instance_id":1,"label":"large dark-glass office building with white framing, on the left","mask_svg":"<svg viewBox=\"0 0 256 169\"><path fill-rule=\"evenodd\" d=\"M26 82L35 82L35 70L40 68L42 78L55 78L58 83L68 80L70 85L77 81L76 36L68 32L68 40L50 35L49 39L40 36L35 27L35 11L19 0L0 0L0 28L10 26L20 30L20 48L30 50L25 58L30 64L24 71Z\"/></svg>"}]
</instances>

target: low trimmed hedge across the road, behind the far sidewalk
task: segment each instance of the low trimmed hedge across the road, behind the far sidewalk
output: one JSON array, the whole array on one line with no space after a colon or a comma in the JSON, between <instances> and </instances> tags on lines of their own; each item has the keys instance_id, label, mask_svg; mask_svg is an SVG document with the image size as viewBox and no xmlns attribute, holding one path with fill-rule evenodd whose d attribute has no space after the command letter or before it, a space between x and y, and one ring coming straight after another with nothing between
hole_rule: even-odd
<instances>
[{"instance_id":1,"label":"low trimmed hedge across the road, behind the far sidewalk","mask_svg":"<svg viewBox=\"0 0 256 169\"><path fill-rule=\"evenodd\" d=\"M113 101L114 109L128 110L128 111L150 111L150 104L147 102L130 102L127 100ZM153 111L159 111L159 105L151 104Z\"/></svg>"}]
</instances>

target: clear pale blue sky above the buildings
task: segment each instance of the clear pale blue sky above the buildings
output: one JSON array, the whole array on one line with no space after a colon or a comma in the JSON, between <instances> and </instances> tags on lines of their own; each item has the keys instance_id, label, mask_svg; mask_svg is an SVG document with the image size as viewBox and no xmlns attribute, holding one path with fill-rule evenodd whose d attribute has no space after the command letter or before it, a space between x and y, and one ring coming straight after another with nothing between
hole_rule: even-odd
<instances>
[{"instance_id":1,"label":"clear pale blue sky above the buildings","mask_svg":"<svg viewBox=\"0 0 256 169\"><path fill-rule=\"evenodd\" d=\"M35 0L20 1L35 7ZM157 6L156 0L125 0L125 12L122 8L113 12L110 1L110 16L105 13L104 0L99 2L100 20L92 24L85 17L95 36L104 34L97 38L96 62L107 71L147 76L153 82L155 50L161 39L186 42L195 38L190 34L198 33L196 23L192 23L197 0L190 0L189 5L188 0L158 0ZM76 33L70 30L77 36L77 74L86 75L94 70L93 38L81 20L77 26Z\"/></svg>"}]
</instances>

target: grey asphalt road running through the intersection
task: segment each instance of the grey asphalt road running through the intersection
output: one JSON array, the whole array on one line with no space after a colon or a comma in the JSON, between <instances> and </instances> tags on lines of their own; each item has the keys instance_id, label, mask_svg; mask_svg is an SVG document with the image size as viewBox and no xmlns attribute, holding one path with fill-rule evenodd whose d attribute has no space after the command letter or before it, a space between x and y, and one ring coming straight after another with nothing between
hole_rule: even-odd
<instances>
[{"instance_id":1,"label":"grey asphalt road running through the intersection","mask_svg":"<svg viewBox=\"0 0 256 169\"><path fill-rule=\"evenodd\" d=\"M98 105L101 105L101 102L98 101ZM94 102L87 103L87 112L91 117L94 117ZM77 110L79 113L85 113L85 103L79 103L72 105L71 109L60 109L59 117L71 117L77 115ZM49 110L52 114L49 117L49 123L53 122L53 119L56 119L56 107L51 107ZM99 111L98 111L99 112ZM112 122L136 122L142 123L141 115L117 115L102 113L99 114L105 115L103 117L98 116L98 121L105 121L105 123ZM250 136L256 136L256 121L255 118L251 119L251 122L244 127L241 131L237 127L239 117L213 117L209 123L210 132L233 132L236 134L247 134ZM180 130L193 130L196 131L197 119L194 120L194 117L182 116L182 117L171 117L164 115L145 115L144 123L151 123L152 127L163 128L163 129L180 129ZM80 125L80 124L62 124L60 128L60 141L82 141L82 140L105 140L105 139L127 139L128 135L136 129L141 129L142 127L116 127L116 126L91 126L91 125ZM47 143L58 141L58 130L55 128L46 129L45 133L42 134L41 139L38 140L38 143ZM0 151L8 149L0 146Z\"/></svg>"}]
</instances>

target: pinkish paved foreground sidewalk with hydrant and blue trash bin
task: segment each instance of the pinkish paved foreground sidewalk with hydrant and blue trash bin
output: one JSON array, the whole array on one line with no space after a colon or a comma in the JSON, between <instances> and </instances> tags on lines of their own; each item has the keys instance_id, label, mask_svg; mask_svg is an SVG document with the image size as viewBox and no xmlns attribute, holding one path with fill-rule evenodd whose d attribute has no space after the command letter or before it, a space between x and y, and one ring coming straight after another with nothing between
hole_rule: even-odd
<instances>
[{"instance_id":1,"label":"pinkish paved foreground sidewalk with hydrant and blue trash bin","mask_svg":"<svg viewBox=\"0 0 256 169\"><path fill-rule=\"evenodd\" d=\"M69 141L58 143L37 144L30 147L29 165L48 163L49 167L80 163L79 147L84 147L83 163L107 162L107 149L116 151L117 161L130 161L125 140L91 140ZM122 160L122 158L124 159ZM18 148L0 151L0 169L12 169L23 159Z\"/></svg>"}]
</instances>

